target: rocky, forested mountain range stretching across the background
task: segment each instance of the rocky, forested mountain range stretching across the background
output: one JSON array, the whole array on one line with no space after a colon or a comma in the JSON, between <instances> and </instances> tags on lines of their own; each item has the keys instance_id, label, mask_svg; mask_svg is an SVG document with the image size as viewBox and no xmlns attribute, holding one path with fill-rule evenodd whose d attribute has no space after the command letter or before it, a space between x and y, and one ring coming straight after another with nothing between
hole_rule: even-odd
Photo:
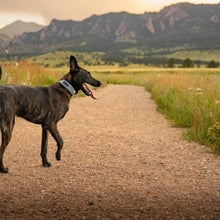
<instances>
[{"instance_id":1,"label":"rocky, forested mountain range stretching across the background","mask_svg":"<svg viewBox=\"0 0 220 220\"><path fill-rule=\"evenodd\" d=\"M160 12L107 13L82 21L53 19L38 28L0 41L2 51L33 55L54 50L220 49L220 3L179 3Z\"/></svg>"}]
</instances>

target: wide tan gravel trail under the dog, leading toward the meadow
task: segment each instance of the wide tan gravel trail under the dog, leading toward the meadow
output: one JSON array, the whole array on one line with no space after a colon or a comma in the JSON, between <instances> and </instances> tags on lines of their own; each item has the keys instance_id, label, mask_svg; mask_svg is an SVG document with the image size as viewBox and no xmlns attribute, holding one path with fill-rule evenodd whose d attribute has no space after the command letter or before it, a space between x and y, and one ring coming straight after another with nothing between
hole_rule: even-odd
<instances>
[{"instance_id":1,"label":"wide tan gravel trail under the dog, leading toward the meadow","mask_svg":"<svg viewBox=\"0 0 220 220\"><path fill-rule=\"evenodd\" d=\"M220 157L182 139L142 87L73 98L62 160L40 166L40 126L17 118L0 174L0 219L220 219Z\"/></svg>"}]
</instances>

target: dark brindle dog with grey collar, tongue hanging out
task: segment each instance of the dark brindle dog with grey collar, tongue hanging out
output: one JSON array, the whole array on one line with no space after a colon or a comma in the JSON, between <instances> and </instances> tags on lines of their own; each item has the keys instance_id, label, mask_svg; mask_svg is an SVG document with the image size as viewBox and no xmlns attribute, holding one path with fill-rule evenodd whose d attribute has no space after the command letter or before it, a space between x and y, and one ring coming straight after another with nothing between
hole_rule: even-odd
<instances>
[{"instance_id":1,"label":"dark brindle dog with grey collar, tongue hanging out","mask_svg":"<svg viewBox=\"0 0 220 220\"><path fill-rule=\"evenodd\" d=\"M4 167L4 151L11 139L15 124L15 117L22 117L27 121L40 124L42 127L41 158L44 167L50 167L47 159L48 132L57 143L56 159L61 160L63 139L57 129L60 121L69 110L69 102L79 90L87 96L95 98L85 83L99 87L101 82L81 68L74 56L70 56L70 70L59 81L45 87L29 87L25 85L0 86L0 129L2 143L0 147L0 172L7 173Z\"/></svg>"}]
</instances>

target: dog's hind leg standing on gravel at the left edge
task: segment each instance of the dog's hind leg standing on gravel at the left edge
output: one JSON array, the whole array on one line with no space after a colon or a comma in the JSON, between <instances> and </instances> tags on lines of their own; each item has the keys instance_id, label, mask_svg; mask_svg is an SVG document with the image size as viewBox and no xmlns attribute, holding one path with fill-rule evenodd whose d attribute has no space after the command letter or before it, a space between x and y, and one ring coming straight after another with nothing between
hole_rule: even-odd
<instances>
[{"instance_id":1,"label":"dog's hind leg standing on gravel at the left edge","mask_svg":"<svg viewBox=\"0 0 220 220\"><path fill-rule=\"evenodd\" d=\"M2 132L2 144L0 147L0 173L8 173L8 168L4 167L3 164L3 156L6 147L11 139L12 130L14 127L14 119L9 122L9 124L1 124L1 132Z\"/></svg>"}]
</instances>

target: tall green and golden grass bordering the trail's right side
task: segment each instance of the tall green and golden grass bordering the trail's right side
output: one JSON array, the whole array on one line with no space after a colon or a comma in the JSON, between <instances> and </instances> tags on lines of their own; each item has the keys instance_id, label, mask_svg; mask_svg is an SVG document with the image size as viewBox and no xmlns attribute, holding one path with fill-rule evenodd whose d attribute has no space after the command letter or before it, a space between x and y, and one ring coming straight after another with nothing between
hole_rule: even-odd
<instances>
[{"instance_id":1,"label":"tall green and golden grass bordering the trail's right side","mask_svg":"<svg viewBox=\"0 0 220 220\"><path fill-rule=\"evenodd\" d=\"M163 74L154 78L152 96L158 109L176 126L186 127L187 137L210 145L220 153L220 75L207 73ZM213 127L215 129L213 129ZM219 129L219 130L218 130Z\"/></svg>"}]
</instances>

